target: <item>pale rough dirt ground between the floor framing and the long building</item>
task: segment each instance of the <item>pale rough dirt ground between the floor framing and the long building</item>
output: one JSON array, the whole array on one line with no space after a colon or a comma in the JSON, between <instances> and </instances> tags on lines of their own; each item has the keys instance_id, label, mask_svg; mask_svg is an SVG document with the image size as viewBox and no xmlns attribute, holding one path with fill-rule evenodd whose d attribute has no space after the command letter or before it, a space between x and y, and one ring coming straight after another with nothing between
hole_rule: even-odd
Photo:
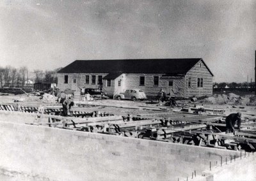
<instances>
[{"instance_id":1,"label":"pale rough dirt ground between the floor framing and the long building","mask_svg":"<svg viewBox=\"0 0 256 181\"><path fill-rule=\"evenodd\" d=\"M114 99L95 99L93 101L85 101L84 103L92 103L92 105L74 106L72 110L93 112L95 110L99 112L113 113L115 115L141 115L147 113L159 113L166 111L179 111L182 107L186 106L204 106L209 109L223 109L226 114L230 112L255 112L256 108L256 96L252 94L246 94L239 96L234 93L228 94L213 94L212 96L204 99L198 99L195 102L191 102L189 99L179 100L177 103L179 107L165 106L165 103L145 101L129 101L129 100L114 100ZM51 103L45 103L44 99L40 99L40 96L35 95L1 95L0 104L12 104L20 106L35 106L40 105L54 106L55 108L61 108L61 104L57 104L56 101Z\"/></svg>"}]
</instances>

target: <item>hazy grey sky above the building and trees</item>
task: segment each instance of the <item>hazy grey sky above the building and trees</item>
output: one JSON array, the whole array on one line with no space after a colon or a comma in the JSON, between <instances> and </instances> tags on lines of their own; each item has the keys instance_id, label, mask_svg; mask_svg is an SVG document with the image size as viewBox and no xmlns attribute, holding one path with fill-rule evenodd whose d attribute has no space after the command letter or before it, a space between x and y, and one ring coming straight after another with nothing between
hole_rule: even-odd
<instances>
[{"instance_id":1,"label":"hazy grey sky above the building and trees","mask_svg":"<svg viewBox=\"0 0 256 181\"><path fill-rule=\"evenodd\" d=\"M0 0L0 66L203 58L215 82L253 78L256 1Z\"/></svg>"}]
</instances>

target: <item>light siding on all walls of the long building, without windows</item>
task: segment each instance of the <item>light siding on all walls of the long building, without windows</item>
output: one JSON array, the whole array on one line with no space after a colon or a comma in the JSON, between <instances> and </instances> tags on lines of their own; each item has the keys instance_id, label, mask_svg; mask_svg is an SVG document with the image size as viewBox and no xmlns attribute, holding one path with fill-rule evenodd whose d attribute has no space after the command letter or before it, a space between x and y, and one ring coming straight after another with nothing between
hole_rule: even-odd
<instances>
[{"instance_id":1,"label":"light siding on all walls of the long building, without windows","mask_svg":"<svg viewBox=\"0 0 256 181\"><path fill-rule=\"evenodd\" d=\"M201 64L201 66L200 66ZM68 75L68 83L64 83L65 75ZM86 75L89 75L90 82L86 84ZM95 84L92 84L92 75L96 76ZM111 87L107 87L107 80L102 80L102 85L98 85L98 76L108 75L108 73L58 73L58 87L61 90L70 89L79 91L79 87L102 89L109 96L113 96L126 89L141 89L147 96L156 96L157 92L163 89L167 94L174 93L176 97L189 98L191 96L211 96L213 76L206 68L204 62L198 61L185 76L163 76L163 74L145 74L145 73L123 73L111 80ZM145 85L140 85L140 76L145 77ZM154 85L154 76L159 76L159 85ZM188 87L188 79L191 77L191 87ZM197 87L197 78L203 78L203 87ZM76 83L74 83L76 79ZM118 81L121 86L118 86ZM169 86L169 81L173 85Z\"/></svg>"}]
</instances>

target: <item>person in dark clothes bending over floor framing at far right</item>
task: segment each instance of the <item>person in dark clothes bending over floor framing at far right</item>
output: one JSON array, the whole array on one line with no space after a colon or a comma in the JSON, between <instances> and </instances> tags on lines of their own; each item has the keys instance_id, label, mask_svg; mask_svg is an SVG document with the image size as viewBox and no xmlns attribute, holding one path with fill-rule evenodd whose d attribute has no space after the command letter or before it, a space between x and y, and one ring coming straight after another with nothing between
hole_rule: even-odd
<instances>
[{"instance_id":1,"label":"person in dark clothes bending over floor framing at far right","mask_svg":"<svg viewBox=\"0 0 256 181\"><path fill-rule=\"evenodd\" d=\"M226 118L226 133L235 133L235 124L237 122L238 131L241 127L241 112L231 113Z\"/></svg>"}]
</instances>

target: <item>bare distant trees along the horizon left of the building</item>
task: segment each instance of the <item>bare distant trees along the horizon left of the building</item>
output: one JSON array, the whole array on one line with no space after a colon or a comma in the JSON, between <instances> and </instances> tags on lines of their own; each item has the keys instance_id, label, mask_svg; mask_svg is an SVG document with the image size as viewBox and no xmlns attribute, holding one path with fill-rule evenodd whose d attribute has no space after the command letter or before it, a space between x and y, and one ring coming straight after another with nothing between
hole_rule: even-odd
<instances>
[{"instance_id":1,"label":"bare distant trees along the horizon left of the building","mask_svg":"<svg viewBox=\"0 0 256 181\"><path fill-rule=\"evenodd\" d=\"M26 66L21 68L13 68L12 66L3 68L0 66L0 87L24 87L28 84L29 80L33 83L57 83L56 73L60 69L54 69L53 71L35 69L33 72L29 72Z\"/></svg>"}]
</instances>

